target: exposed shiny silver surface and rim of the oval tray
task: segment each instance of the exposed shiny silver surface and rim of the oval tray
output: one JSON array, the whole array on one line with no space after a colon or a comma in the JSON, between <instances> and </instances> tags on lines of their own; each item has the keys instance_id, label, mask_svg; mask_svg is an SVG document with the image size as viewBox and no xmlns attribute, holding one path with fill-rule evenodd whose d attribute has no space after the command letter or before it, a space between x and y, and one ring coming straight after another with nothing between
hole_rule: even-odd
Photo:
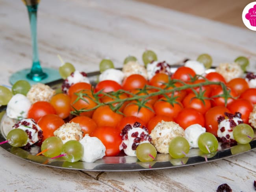
<instances>
[{"instance_id":1,"label":"exposed shiny silver surface and rim of the oval tray","mask_svg":"<svg viewBox=\"0 0 256 192\"><path fill-rule=\"evenodd\" d=\"M210 69L211 70L211 69ZM88 73L91 82L97 81L99 72ZM53 89L60 89L63 80L59 79L48 83ZM0 142L6 140L6 135L13 126L15 120L10 119L5 113L6 106L0 107ZM156 159L151 162L140 162L136 157L130 157L121 152L117 157L104 157L95 162L67 162L62 159L50 159L43 155L36 156L39 153L40 147L34 145L30 151L23 150L10 146L8 143L0 145L4 150L19 157L23 160L41 164L42 166L52 166L55 168L67 168L72 170L87 170L87 171L139 171L139 170L155 170L174 168L181 166L189 166L205 162L216 161L226 157L232 157L256 148L256 133L254 140L249 144L237 145L232 148L216 151L209 154L203 154L199 149L194 148L189 151L187 157L182 159L172 159L169 154L158 154Z\"/></svg>"}]
</instances>

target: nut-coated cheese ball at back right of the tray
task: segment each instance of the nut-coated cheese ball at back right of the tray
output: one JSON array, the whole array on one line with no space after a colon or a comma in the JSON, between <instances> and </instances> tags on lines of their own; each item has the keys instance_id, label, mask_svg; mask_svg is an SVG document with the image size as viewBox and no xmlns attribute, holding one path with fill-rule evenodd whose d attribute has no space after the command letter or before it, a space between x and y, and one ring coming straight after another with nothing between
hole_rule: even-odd
<instances>
[{"instance_id":1,"label":"nut-coated cheese ball at back right of the tray","mask_svg":"<svg viewBox=\"0 0 256 192\"><path fill-rule=\"evenodd\" d=\"M226 82L243 76L243 70L237 63L220 63L219 66L216 67L216 72L221 74Z\"/></svg>"}]
</instances>

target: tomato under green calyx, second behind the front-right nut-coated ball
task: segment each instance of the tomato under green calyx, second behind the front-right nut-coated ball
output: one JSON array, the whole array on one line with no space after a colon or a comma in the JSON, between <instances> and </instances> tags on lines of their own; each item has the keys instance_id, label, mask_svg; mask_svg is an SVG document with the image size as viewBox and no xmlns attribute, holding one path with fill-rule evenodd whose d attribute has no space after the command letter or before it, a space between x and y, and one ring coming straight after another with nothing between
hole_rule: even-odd
<instances>
[{"instance_id":1,"label":"tomato under green calyx, second behind the front-right nut-coated ball","mask_svg":"<svg viewBox=\"0 0 256 192\"><path fill-rule=\"evenodd\" d=\"M171 104L167 102L166 98L161 98L156 103L154 103L153 109L156 115L165 115L171 118L175 118L180 113L180 111L182 111L183 105L179 101Z\"/></svg>"}]
</instances>

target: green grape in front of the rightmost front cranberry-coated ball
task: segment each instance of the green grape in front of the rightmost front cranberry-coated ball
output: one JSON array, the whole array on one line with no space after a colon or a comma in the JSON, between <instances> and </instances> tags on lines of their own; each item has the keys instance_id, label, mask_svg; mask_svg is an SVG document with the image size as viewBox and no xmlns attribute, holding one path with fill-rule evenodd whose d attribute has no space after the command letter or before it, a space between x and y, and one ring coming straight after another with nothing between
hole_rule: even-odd
<instances>
[{"instance_id":1,"label":"green grape in front of the rightmost front cranberry-coated ball","mask_svg":"<svg viewBox=\"0 0 256 192\"><path fill-rule=\"evenodd\" d=\"M248 124L239 124L233 129L234 139L240 144L251 142L254 137L254 131Z\"/></svg>"}]
</instances>

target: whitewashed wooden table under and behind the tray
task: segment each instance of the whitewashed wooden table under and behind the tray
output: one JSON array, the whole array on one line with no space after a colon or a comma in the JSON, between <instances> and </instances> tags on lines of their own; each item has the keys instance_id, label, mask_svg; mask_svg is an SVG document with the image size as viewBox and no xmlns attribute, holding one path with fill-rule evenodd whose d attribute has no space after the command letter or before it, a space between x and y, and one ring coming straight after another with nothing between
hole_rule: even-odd
<instances>
[{"instance_id":1,"label":"whitewashed wooden table under and behind the tray","mask_svg":"<svg viewBox=\"0 0 256 192\"><path fill-rule=\"evenodd\" d=\"M240 14L240 13L237 13ZM256 32L132 0L43 0L38 12L41 65L58 68L61 55L85 72L109 57L121 67L126 56L142 62L145 49L175 63L201 53L214 65L250 57L256 71ZM28 14L21 1L0 0L0 84L31 66ZM256 150L231 158L164 170L82 172L33 164L0 148L0 191L254 191Z\"/></svg>"}]
</instances>

